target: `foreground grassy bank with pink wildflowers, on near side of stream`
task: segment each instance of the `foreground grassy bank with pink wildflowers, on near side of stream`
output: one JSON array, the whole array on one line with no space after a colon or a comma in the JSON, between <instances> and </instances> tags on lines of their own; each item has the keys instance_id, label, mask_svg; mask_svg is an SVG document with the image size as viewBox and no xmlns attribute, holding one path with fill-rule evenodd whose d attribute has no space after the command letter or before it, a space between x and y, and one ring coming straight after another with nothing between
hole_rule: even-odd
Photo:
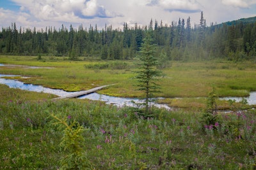
<instances>
[{"instance_id":1,"label":"foreground grassy bank with pink wildflowers, on near side of stream","mask_svg":"<svg viewBox=\"0 0 256 170\"><path fill-rule=\"evenodd\" d=\"M51 114L86 131L83 153L95 169L253 169L255 111L219 113L138 110L84 100L49 101L47 94L0 85L0 169L58 169L68 154Z\"/></svg>"}]
</instances>

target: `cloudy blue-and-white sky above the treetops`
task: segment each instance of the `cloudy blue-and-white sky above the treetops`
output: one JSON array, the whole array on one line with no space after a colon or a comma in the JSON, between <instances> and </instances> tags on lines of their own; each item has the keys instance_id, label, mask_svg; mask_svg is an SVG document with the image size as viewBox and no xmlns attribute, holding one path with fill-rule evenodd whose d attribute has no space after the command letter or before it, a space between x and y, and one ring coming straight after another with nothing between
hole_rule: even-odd
<instances>
[{"instance_id":1,"label":"cloudy blue-and-white sky above the treetops","mask_svg":"<svg viewBox=\"0 0 256 170\"><path fill-rule=\"evenodd\" d=\"M148 25L150 19L168 24L190 17L199 24L200 13L209 25L256 16L256 0L0 0L0 27L15 22L17 27L38 29L54 26L67 28L112 25L124 22Z\"/></svg>"}]
</instances>

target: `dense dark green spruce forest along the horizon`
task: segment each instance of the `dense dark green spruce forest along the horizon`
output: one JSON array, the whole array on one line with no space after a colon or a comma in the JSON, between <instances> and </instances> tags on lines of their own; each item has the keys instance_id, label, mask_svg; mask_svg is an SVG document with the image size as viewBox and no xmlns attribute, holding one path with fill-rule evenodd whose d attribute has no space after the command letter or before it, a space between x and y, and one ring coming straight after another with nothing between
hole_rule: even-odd
<instances>
[{"instance_id":1,"label":"dense dark green spruce forest along the horizon","mask_svg":"<svg viewBox=\"0 0 256 170\"><path fill-rule=\"evenodd\" d=\"M170 25L150 20L149 25L129 27L124 23L122 29L106 25L102 30L97 25L36 30L12 23L0 32L0 54L128 60L140 50L145 31L152 29L163 60L255 59L256 17L207 26L201 13L198 23L192 25L190 18Z\"/></svg>"}]
</instances>

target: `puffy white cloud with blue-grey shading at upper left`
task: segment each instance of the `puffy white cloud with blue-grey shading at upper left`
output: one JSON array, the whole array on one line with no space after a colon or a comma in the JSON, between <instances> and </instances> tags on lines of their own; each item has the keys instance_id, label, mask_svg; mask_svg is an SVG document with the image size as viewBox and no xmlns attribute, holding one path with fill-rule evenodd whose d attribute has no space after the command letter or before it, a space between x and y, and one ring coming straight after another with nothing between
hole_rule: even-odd
<instances>
[{"instance_id":1,"label":"puffy white cloud with blue-grey shading at upper left","mask_svg":"<svg viewBox=\"0 0 256 170\"><path fill-rule=\"evenodd\" d=\"M38 20L81 22L83 18L115 17L115 13L100 6L97 0L12 0L20 10L29 11Z\"/></svg>"}]
</instances>

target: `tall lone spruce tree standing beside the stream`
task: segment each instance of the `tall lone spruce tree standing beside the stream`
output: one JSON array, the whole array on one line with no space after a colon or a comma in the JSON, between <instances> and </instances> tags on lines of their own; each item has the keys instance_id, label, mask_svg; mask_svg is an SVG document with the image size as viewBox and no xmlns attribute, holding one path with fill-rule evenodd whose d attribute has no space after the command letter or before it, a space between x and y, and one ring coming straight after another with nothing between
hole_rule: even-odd
<instances>
[{"instance_id":1,"label":"tall lone spruce tree standing beside the stream","mask_svg":"<svg viewBox=\"0 0 256 170\"><path fill-rule=\"evenodd\" d=\"M138 55L138 71L136 71L136 79L138 81L138 90L143 91L145 102L145 114L148 115L150 112L150 102L154 97L155 92L159 92L159 85L156 83L157 77L161 76L162 73L157 69L157 57L156 50L157 46L154 44L153 31L149 29L146 32L146 36L143 39L143 43L140 47L140 53Z\"/></svg>"}]
</instances>

